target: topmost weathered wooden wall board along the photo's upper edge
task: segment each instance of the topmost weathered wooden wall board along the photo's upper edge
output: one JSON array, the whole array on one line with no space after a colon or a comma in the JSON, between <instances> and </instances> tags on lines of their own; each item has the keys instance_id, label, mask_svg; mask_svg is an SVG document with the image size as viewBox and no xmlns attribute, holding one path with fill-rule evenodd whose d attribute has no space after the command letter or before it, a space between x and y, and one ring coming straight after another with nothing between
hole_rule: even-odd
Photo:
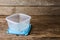
<instances>
[{"instance_id":1,"label":"topmost weathered wooden wall board along the photo's upper edge","mask_svg":"<svg viewBox=\"0 0 60 40\"><path fill-rule=\"evenodd\" d=\"M60 0L0 0L0 5L10 5L10 6L16 6L16 5L60 5Z\"/></svg>"}]
</instances>

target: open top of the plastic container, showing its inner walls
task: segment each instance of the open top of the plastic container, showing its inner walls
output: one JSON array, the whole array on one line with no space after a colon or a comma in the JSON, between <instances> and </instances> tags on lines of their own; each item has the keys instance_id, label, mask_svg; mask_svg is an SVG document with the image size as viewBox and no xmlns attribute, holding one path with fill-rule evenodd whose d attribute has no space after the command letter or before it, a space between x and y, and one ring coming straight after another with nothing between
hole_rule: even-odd
<instances>
[{"instance_id":1,"label":"open top of the plastic container, showing its inner walls","mask_svg":"<svg viewBox=\"0 0 60 40\"><path fill-rule=\"evenodd\" d=\"M8 17L7 19L12 21L12 22L15 22L15 23L21 23L21 22L26 22L26 21L30 21L30 18L29 16L27 15L24 15L24 14L15 14L15 15L12 15L10 17ZM7 21L8 21L7 20Z\"/></svg>"}]
</instances>

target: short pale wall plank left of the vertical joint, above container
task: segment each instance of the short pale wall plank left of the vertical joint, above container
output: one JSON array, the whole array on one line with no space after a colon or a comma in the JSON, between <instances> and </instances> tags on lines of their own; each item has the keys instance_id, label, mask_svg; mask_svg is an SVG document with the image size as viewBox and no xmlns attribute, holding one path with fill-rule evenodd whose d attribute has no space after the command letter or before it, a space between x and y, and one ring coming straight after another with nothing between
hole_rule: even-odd
<instances>
[{"instance_id":1,"label":"short pale wall plank left of the vertical joint, above container","mask_svg":"<svg viewBox=\"0 0 60 40\"><path fill-rule=\"evenodd\" d=\"M14 11L14 7L0 7L0 15L11 15Z\"/></svg>"}]
</instances>

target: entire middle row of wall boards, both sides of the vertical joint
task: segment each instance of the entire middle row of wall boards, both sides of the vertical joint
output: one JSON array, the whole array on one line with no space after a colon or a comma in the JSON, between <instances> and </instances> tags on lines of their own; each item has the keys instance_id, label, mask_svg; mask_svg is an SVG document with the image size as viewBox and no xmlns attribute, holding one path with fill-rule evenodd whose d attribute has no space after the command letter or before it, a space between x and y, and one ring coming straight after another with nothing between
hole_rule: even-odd
<instances>
[{"instance_id":1,"label":"entire middle row of wall boards, both sides of the vertical joint","mask_svg":"<svg viewBox=\"0 0 60 40\"><path fill-rule=\"evenodd\" d=\"M0 15L26 13L28 15L60 15L60 7L0 7Z\"/></svg>"}]
</instances>

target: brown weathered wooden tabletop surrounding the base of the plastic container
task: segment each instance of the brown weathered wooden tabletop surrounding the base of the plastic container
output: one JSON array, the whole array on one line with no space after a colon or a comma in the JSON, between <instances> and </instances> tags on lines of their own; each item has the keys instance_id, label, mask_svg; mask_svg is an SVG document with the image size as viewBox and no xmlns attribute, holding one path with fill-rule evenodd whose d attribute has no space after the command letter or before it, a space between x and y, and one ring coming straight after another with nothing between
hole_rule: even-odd
<instances>
[{"instance_id":1,"label":"brown weathered wooden tabletop surrounding the base of the plastic container","mask_svg":"<svg viewBox=\"0 0 60 40\"><path fill-rule=\"evenodd\" d=\"M32 15L32 30L28 36L16 36L7 34L8 25L5 20L6 16L0 16L0 39L1 40L60 40L60 16ZM48 37L48 38L42 38Z\"/></svg>"}]
</instances>

